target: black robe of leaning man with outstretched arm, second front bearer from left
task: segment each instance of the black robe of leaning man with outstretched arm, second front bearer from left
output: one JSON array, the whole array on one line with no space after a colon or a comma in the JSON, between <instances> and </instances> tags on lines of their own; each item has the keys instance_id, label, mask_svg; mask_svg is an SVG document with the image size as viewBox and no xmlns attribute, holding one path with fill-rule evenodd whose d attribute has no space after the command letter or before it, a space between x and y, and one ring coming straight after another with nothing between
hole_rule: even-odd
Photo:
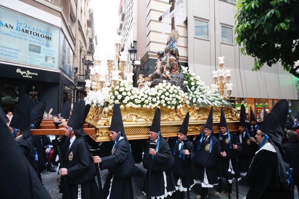
<instances>
[{"instance_id":1,"label":"black robe of leaning man with outstretched arm, second front bearer from left","mask_svg":"<svg viewBox=\"0 0 299 199\"><path fill-rule=\"evenodd\" d=\"M112 150L111 155L101 158L100 169L108 169L103 195L107 198L112 180L109 198L130 199L134 197L131 177L137 172L128 142L123 138Z\"/></svg>"}]
</instances>

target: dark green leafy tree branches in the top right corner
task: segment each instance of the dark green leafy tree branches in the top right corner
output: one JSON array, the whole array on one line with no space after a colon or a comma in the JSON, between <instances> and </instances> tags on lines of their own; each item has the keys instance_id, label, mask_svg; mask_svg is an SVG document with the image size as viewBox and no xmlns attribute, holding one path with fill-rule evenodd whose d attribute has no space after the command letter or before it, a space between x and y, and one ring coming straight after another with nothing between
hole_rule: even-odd
<instances>
[{"instance_id":1,"label":"dark green leafy tree branches in the top right corner","mask_svg":"<svg viewBox=\"0 0 299 199\"><path fill-rule=\"evenodd\" d=\"M235 15L236 41L241 53L255 58L253 70L281 61L299 77L298 0L239 0Z\"/></svg>"}]
</instances>

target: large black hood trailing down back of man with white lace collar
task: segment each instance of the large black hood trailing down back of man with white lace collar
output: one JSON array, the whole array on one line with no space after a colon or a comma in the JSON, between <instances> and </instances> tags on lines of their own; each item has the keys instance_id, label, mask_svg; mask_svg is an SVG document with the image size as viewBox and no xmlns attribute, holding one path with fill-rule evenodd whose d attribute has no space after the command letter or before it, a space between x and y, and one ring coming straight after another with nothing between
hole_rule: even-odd
<instances>
[{"instance_id":1,"label":"large black hood trailing down back of man with white lace collar","mask_svg":"<svg viewBox=\"0 0 299 199\"><path fill-rule=\"evenodd\" d=\"M284 150L282 150L281 142L288 117L288 106L288 101L286 99L281 99L278 101L272 108L271 112L269 112L263 123L259 126L259 130L269 137L269 141L276 150L279 176L285 189L288 188L288 176L286 175L286 171L289 170L289 166L287 164L287 156Z\"/></svg>"}]
</instances>

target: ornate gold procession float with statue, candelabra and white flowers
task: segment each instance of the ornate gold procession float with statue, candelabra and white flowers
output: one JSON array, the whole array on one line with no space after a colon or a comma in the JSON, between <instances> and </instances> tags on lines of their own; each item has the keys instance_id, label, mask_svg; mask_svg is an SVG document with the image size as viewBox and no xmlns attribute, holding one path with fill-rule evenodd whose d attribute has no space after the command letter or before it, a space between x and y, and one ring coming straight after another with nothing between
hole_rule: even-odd
<instances>
[{"instance_id":1,"label":"ornate gold procession float with statue, candelabra and white flowers","mask_svg":"<svg viewBox=\"0 0 299 199\"><path fill-rule=\"evenodd\" d=\"M177 30L167 39L165 49L157 52L154 73L138 76L138 87L133 86L133 73L124 74L127 55L120 53L121 39L116 41L116 55L108 56L107 66L97 60L86 80L86 104L91 104L86 122L95 128L88 133L96 142L109 141L113 105L120 104L124 128L129 140L146 139L156 108L161 109L161 133L176 136L187 112L190 113L188 135L203 131L210 107L213 106L214 132L219 132L221 107L230 131L236 131L238 112L225 100L230 98L232 84L230 70L224 70L224 57L219 57L220 69L213 71L214 84L208 87L199 76L183 67L176 43ZM120 54L121 55L120 55ZM123 78L126 76L126 79ZM218 93L218 89L220 94ZM226 89L228 97L224 97Z\"/></svg>"}]
</instances>

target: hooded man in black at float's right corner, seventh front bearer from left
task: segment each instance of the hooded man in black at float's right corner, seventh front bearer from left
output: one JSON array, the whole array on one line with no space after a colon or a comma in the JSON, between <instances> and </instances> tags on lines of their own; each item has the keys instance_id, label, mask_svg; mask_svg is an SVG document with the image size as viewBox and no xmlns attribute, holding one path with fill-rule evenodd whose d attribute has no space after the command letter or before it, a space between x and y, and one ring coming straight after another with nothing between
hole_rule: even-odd
<instances>
[{"instance_id":1,"label":"hooded man in black at float's right corner, seventh front bearer from left","mask_svg":"<svg viewBox=\"0 0 299 199\"><path fill-rule=\"evenodd\" d=\"M256 144L256 140L250 136L248 130L246 128L246 118L245 116L245 106L241 105L240 112L240 122L238 125L239 133L237 134L237 139L240 141L242 145L242 150L239 152L238 157L238 166L242 176L246 175L248 171L249 165L255 152L258 150L259 146Z\"/></svg>"}]
</instances>

